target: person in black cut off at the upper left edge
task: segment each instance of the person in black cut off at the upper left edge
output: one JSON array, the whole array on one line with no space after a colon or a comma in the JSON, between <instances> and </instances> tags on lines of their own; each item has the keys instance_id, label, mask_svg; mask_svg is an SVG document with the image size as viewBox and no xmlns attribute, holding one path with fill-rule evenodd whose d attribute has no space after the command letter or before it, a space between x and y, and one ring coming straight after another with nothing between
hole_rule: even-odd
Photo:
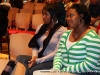
<instances>
[{"instance_id":1,"label":"person in black cut off at the upper left edge","mask_svg":"<svg viewBox=\"0 0 100 75\"><path fill-rule=\"evenodd\" d=\"M6 3L0 3L0 38L2 38L6 32L8 27L8 11L10 10L10 6L6 5Z\"/></svg>"}]
</instances>

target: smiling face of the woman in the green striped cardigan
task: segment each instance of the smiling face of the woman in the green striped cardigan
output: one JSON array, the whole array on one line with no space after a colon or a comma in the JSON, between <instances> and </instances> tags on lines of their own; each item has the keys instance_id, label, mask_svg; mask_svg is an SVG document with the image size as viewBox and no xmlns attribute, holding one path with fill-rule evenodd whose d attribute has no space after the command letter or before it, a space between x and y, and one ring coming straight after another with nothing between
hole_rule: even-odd
<instances>
[{"instance_id":1,"label":"smiling face of the woman in the green striped cardigan","mask_svg":"<svg viewBox=\"0 0 100 75\"><path fill-rule=\"evenodd\" d=\"M80 22L80 15L76 12L76 10L69 9L66 15L67 15L66 20L67 20L68 26L73 29L77 28Z\"/></svg>"}]
</instances>

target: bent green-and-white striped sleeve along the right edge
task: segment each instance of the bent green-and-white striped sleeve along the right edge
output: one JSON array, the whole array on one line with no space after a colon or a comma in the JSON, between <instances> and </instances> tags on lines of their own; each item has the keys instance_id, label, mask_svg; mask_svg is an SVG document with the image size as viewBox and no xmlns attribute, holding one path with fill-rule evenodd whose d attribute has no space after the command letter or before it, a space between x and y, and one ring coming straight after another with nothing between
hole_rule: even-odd
<instances>
[{"instance_id":1,"label":"bent green-and-white striped sleeve along the right edge","mask_svg":"<svg viewBox=\"0 0 100 75\"><path fill-rule=\"evenodd\" d=\"M93 72L98 67L100 61L100 38L90 38L90 41L86 43L86 60L72 66L64 67L62 71L77 73Z\"/></svg>"}]
</instances>

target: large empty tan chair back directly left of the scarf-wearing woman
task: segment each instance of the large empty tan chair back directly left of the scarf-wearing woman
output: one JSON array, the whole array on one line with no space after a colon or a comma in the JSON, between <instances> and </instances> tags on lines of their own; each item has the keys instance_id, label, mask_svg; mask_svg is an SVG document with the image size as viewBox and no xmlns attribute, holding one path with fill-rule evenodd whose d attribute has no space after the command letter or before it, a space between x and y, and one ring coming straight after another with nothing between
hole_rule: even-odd
<instances>
[{"instance_id":1,"label":"large empty tan chair back directly left of the scarf-wearing woman","mask_svg":"<svg viewBox=\"0 0 100 75\"><path fill-rule=\"evenodd\" d=\"M16 58L18 55L32 55L32 48L28 43L33 37L28 33L17 33L10 35L10 57Z\"/></svg>"}]
</instances>

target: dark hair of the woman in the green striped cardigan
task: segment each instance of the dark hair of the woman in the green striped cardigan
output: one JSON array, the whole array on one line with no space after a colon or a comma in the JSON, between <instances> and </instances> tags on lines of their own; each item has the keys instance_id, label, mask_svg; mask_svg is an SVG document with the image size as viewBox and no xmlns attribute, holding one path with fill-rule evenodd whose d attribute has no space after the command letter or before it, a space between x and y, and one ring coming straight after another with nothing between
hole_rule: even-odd
<instances>
[{"instance_id":1,"label":"dark hair of the woman in the green striped cardigan","mask_svg":"<svg viewBox=\"0 0 100 75\"><path fill-rule=\"evenodd\" d=\"M90 25L91 15L89 10L83 4L73 4L69 9L75 9L79 15L82 15L81 18L84 20L86 25Z\"/></svg>"}]
</instances>

